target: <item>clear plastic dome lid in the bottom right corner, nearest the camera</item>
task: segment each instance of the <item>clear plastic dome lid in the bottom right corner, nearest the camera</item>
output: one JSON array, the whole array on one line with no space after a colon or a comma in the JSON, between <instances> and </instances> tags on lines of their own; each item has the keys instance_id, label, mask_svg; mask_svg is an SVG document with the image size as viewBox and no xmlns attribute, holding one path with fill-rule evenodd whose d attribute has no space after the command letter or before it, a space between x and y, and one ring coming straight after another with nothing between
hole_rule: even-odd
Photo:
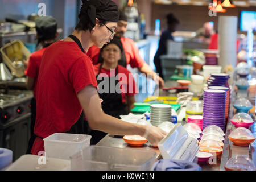
<instances>
[{"instance_id":1,"label":"clear plastic dome lid in the bottom right corner, nearest the camera","mask_svg":"<svg viewBox=\"0 0 256 182\"><path fill-rule=\"evenodd\" d=\"M227 171L255 171L256 168L250 158L246 156L233 156L224 165Z\"/></svg>"}]
</instances>

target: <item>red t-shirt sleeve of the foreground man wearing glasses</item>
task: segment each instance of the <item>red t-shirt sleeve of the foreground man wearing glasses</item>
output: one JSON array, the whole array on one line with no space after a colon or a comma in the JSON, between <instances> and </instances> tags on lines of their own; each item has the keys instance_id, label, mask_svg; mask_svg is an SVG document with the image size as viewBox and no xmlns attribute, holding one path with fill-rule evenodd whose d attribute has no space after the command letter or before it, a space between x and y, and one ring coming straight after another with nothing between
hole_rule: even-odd
<instances>
[{"instance_id":1,"label":"red t-shirt sleeve of the foreground man wearing glasses","mask_svg":"<svg viewBox=\"0 0 256 182\"><path fill-rule=\"evenodd\" d=\"M69 78L76 93L84 89L87 85L97 88L93 64L89 58L81 57L78 59L69 71Z\"/></svg>"}]
</instances>

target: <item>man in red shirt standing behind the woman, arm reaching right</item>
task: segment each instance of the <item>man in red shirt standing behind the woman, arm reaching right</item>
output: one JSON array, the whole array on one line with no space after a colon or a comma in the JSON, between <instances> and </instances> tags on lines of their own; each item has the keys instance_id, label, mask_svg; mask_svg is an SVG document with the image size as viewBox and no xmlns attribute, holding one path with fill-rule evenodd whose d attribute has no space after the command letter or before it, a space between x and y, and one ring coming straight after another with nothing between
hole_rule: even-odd
<instances>
[{"instance_id":1,"label":"man in red shirt standing behind the woman, arm reaching right","mask_svg":"<svg viewBox=\"0 0 256 182\"><path fill-rule=\"evenodd\" d=\"M123 67L127 67L128 64L131 65L132 68L138 68L139 72L148 75L152 75L152 80L159 84L159 88L164 87L164 81L161 77L159 77L150 66L145 63L142 57L139 55L139 48L136 46L135 42L129 38L123 37L127 30L127 16L120 11L119 21L117 24L117 28L115 28L115 37L119 38L123 46L123 54L121 60L118 61L118 64ZM100 49L97 46L92 46L88 49L87 55L93 60L93 64L98 64L98 62L102 63L102 57L100 55Z\"/></svg>"}]
</instances>

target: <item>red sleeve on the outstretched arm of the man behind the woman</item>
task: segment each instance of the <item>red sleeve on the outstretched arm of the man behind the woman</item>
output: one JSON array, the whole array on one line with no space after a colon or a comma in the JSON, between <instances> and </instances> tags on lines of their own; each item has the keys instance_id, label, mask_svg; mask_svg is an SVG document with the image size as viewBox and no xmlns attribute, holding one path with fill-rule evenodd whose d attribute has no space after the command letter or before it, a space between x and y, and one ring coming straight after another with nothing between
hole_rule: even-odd
<instances>
[{"instance_id":1,"label":"red sleeve on the outstretched arm of the man behind the woman","mask_svg":"<svg viewBox=\"0 0 256 182\"><path fill-rule=\"evenodd\" d=\"M141 55L139 55L139 48L136 46L133 40L130 40L130 44L131 44L131 61L130 61L131 68L142 67L145 61L142 59Z\"/></svg>"}]
</instances>

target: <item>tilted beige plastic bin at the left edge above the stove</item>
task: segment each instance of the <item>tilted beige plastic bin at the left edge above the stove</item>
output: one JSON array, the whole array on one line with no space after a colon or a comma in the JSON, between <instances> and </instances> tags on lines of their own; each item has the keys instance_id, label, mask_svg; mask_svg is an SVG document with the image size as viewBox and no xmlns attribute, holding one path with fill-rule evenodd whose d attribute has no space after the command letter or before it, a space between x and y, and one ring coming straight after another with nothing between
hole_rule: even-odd
<instances>
[{"instance_id":1,"label":"tilted beige plastic bin at the left edge above the stove","mask_svg":"<svg viewBox=\"0 0 256 182\"><path fill-rule=\"evenodd\" d=\"M3 61L16 77L25 75L23 61L26 61L31 53L20 40L14 40L0 49Z\"/></svg>"}]
</instances>

